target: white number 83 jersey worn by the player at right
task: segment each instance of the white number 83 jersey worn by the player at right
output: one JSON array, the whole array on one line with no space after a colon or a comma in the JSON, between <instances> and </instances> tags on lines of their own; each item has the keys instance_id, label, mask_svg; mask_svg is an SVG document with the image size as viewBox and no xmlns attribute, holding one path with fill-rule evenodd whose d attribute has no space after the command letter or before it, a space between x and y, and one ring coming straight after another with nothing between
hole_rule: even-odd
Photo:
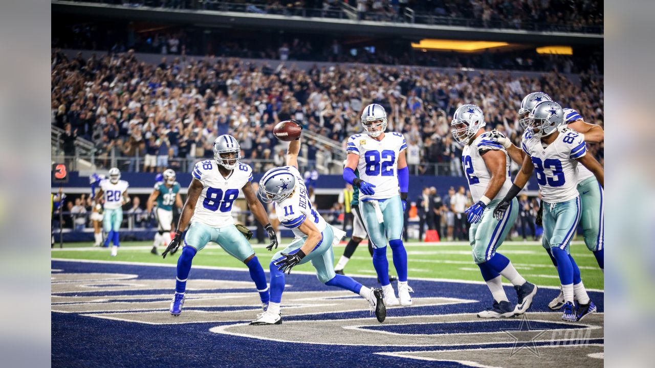
<instances>
[{"instance_id":1,"label":"white number 83 jersey worn by the player at right","mask_svg":"<svg viewBox=\"0 0 655 368\"><path fill-rule=\"evenodd\" d=\"M587 153L582 136L563 129L548 147L529 132L523 135L523 151L532 157L534 172L544 202L561 203L578 196L578 160Z\"/></svg>"}]
</instances>

